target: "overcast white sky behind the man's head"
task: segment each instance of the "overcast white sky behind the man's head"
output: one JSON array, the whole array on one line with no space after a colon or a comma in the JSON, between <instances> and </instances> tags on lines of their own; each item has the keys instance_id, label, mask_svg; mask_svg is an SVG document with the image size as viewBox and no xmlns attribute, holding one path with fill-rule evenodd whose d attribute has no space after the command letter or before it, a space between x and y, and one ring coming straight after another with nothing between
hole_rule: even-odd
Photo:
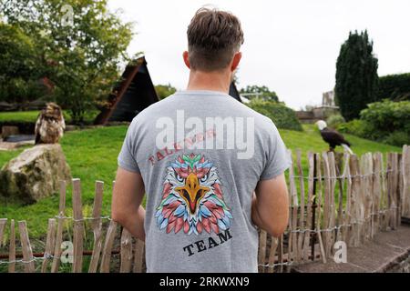
<instances>
[{"instance_id":1,"label":"overcast white sky behind the man's head","mask_svg":"<svg viewBox=\"0 0 410 291\"><path fill-rule=\"evenodd\" d=\"M410 72L409 0L110 0L112 10L136 22L129 53L143 51L154 84L184 89L186 31L202 5L229 10L245 35L239 84L267 85L287 105L318 105L333 89L335 62L350 30L367 29L379 75Z\"/></svg>"}]
</instances>

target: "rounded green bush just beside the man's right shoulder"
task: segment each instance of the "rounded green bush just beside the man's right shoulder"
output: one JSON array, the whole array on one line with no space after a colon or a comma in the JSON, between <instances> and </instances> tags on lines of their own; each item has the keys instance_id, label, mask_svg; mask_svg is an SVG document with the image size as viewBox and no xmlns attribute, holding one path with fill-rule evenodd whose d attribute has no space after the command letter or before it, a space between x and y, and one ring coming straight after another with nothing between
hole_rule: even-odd
<instances>
[{"instance_id":1,"label":"rounded green bush just beside the man's right shoulder","mask_svg":"<svg viewBox=\"0 0 410 291\"><path fill-rule=\"evenodd\" d=\"M271 118L278 128L302 131L302 125L296 113L282 103L252 99L248 105L261 115Z\"/></svg>"}]
</instances>

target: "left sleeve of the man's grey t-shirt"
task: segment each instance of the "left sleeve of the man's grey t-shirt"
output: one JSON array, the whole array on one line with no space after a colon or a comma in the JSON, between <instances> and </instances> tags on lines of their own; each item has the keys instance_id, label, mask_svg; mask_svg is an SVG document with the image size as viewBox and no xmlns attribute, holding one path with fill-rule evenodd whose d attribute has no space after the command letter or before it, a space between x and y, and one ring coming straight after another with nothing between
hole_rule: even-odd
<instances>
[{"instance_id":1,"label":"left sleeve of the man's grey t-shirt","mask_svg":"<svg viewBox=\"0 0 410 291\"><path fill-rule=\"evenodd\" d=\"M135 156L137 151L134 145L136 144L137 136L133 134L135 132L134 127L134 122L128 127L127 135L118 155L118 166L130 172L140 173Z\"/></svg>"}]
</instances>

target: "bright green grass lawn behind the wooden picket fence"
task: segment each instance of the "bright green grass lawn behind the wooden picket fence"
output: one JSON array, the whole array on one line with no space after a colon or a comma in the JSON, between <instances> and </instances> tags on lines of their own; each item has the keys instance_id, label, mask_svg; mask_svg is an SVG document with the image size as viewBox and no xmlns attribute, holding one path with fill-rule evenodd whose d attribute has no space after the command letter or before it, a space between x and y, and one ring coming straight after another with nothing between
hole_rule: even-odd
<instances>
[{"instance_id":1,"label":"bright green grass lawn behind the wooden picket fence","mask_svg":"<svg viewBox=\"0 0 410 291\"><path fill-rule=\"evenodd\" d=\"M302 151L302 166L304 175L307 175L307 158L309 151L322 152L327 150L320 134L313 125L304 125L304 132L281 130L282 138L295 154L296 149ZM73 177L81 179L82 202L85 206L85 216L91 216L94 199L94 184L96 180L105 182L102 215L109 215L111 201L111 186L115 179L117 169L117 156L122 146L127 126L113 126L95 128L83 131L67 132L62 139L62 146L67 156L67 162L71 167ZM386 146L362 138L345 135L353 144L355 154L362 155L366 152L380 151L400 152L401 148ZM9 159L17 156L23 149L12 152L0 152L0 166ZM68 216L71 214L70 187L67 193ZM58 211L58 196L51 196L41 200L36 205L19 206L6 204L4 198L0 198L0 217L15 220L26 220L30 237L43 237L46 234L47 219L56 216Z\"/></svg>"}]
</instances>

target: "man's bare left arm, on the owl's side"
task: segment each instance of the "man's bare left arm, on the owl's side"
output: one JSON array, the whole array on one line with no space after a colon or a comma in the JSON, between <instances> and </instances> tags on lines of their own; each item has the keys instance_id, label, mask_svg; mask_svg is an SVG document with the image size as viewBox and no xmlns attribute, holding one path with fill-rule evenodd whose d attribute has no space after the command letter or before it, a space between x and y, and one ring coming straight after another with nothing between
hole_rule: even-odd
<instances>
[{"instance_id":1,"label":"man's bare left arm, on the owl's side","mask_svg":"<svg viewBox=\"0 0 410 291\"><path fill-rule=\"evenodd\" d=\"M141 206L145 194L142 176L118 167L112 195L111 217L127 228L132 236L145 241L145 209Z\"/></svg>"}]
</instances>

